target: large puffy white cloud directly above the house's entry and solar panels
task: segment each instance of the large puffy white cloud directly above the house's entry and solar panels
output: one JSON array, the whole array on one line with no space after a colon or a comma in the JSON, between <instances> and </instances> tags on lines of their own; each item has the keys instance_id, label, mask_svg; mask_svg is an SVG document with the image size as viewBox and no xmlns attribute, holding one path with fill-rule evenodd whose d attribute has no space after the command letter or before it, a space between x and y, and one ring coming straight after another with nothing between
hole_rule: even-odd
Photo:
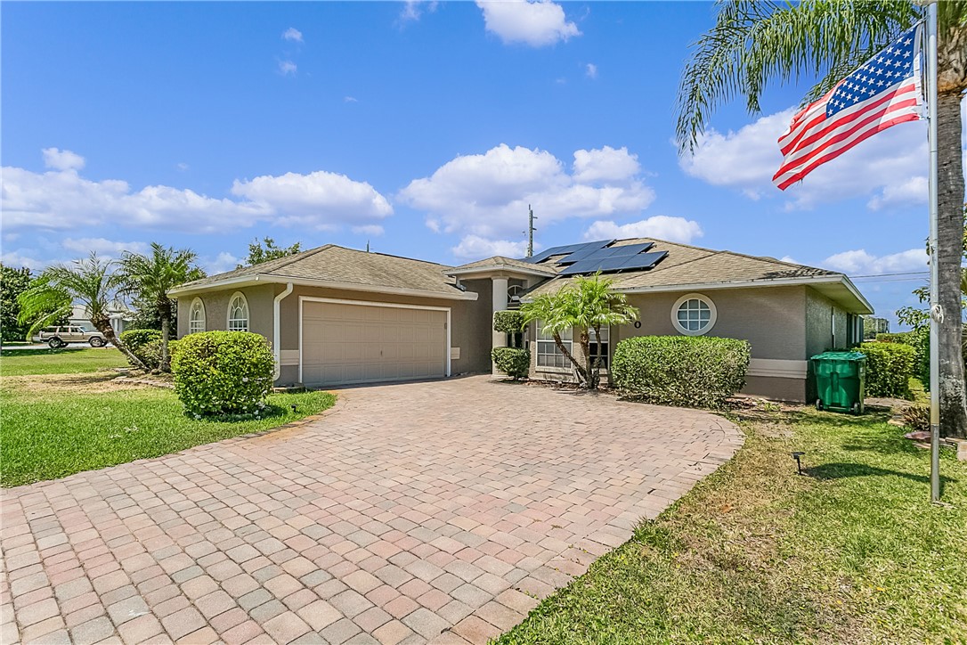
<instances>
[{"instance_id":1,"label":"large puffy white cloud directly above the house's entry and solar panels","mask_svg":"<svg viewBox=\"0 0 967 645\"><path fill-rule=\"evenodd\" d=\"M483 155L448 161L431 176L410 182L398 198L425 211L431 230L488 240L520 235L528 205L546 226L569 218L636 214L655 199L655 191L628 174L628 160L633 158L627 150L578 153L586 153L580 155L582 172L616 180L578 181L549 152L500 144ZM618 159L622 163L614 163Z\"/></svg>"}]
</instances>

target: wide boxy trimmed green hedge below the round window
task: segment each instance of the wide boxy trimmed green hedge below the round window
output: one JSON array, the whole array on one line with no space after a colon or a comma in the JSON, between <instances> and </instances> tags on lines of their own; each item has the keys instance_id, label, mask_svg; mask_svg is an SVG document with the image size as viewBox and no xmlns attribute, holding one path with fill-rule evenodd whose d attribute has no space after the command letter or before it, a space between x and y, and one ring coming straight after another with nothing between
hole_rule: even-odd
<instances>
[{"instance_id":1,"label":"wide boxy trimmed green hedge below the round window","mask_svg":"<svg viewBox=\"0 0 967 645\"><path fill-rule=\"evenodd\" d=\"M746 386L746 340L643 336L615 348L611 375L630 396L663 405L721 407Z\"/></svg>"}]
</instances>

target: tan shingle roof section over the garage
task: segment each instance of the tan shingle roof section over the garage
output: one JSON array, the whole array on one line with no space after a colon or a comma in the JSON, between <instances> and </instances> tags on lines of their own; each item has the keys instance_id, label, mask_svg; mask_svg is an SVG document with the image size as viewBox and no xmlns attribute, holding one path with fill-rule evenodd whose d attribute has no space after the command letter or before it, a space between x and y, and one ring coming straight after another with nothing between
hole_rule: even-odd
<instances>
[{"instance_id":1,"label":"tan shingle roof section over the garage","mask_svg":"<svg viewBox=\"0 0 967 645\"><path fill-rule=\"evenodd\" d=\"M435 262L345 249L330 244L217 276L187 282L179 289L215 285L225 279L244 279L247 276L254 278L258 275L278 279L324 280L394 289L435 291L441 294L459 293L455 280L446 275L450 269L452 267Z\"/></svg>"}]
</instances>

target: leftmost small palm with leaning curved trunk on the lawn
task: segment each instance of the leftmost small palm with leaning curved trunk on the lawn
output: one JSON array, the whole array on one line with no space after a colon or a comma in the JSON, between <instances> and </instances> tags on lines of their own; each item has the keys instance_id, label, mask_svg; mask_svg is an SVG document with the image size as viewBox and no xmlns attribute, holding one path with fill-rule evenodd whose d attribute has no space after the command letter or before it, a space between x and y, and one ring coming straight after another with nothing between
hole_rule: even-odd
<instances>
[{"instance_id":1,"label":"leftmost small palm with leaning curved trunk on the lawn","mask_svg":"<svg viewBox=\"0 0 967 645\"><path fill-rule=\"evenodd\" d=\"M103 334L107 342L121 350L132 366L147 369L114 334L114 328L111 327L107 307L114 302L122 285L121 276L114 271L114 265L114 262L104 260L91 251L88 257L74 260L71 266L57 264L48 267L31 288L17 299L20 316L27 320L40 311L48 310L57 302L80 303L87 309L91 324ZM37 323L35 327L36 325Z\"/></svg>"}]
</instances>

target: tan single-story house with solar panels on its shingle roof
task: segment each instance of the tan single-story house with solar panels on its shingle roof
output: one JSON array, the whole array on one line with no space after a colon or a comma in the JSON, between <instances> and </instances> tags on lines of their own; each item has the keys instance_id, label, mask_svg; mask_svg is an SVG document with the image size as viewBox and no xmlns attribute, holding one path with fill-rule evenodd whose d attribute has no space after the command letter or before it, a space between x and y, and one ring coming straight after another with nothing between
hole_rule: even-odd
<instances>
[{"instance_id":1,"label":"tan single-story house with solar panels on its shingle roof","mask_svg":"<svg viewBox=\"0 0 967 645\"><path fill-rule=\"evenodd\" d=\"M319 387L489 371L490 349L508 340L491 329L494 311L597 267L641 311L639 322L602 335L605 361L633 336L744 338L752 352L749 394L811 399L808 357L862 339L860 316L872 313L842 274L644 239L459 267L327 245L189 282L172 295L179 336L256 332L272 342L278 385ZM533 376L571 378L539 326L525 337Z\"/></svg>"}]
</instances>

